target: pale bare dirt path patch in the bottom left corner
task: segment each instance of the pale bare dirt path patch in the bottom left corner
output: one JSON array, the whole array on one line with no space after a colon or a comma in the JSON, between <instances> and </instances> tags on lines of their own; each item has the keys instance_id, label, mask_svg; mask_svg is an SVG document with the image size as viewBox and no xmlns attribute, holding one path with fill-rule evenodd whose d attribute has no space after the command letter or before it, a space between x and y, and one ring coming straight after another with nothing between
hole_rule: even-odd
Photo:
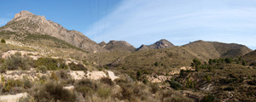
<instances>
[{"instance_id":1,"label":"pale bare dirt path patch in the bottom left corner","mask_svg":"<svg viewBox=\"0 0 256 102\"><path fill-rule=\"evenodd\" d=\"M15 94L15 95L2 95L0 96L0 101L1 102L18 102L20 98L26 97L26 93L21 93L21 94Z\"/></svg>"}]
</instances>

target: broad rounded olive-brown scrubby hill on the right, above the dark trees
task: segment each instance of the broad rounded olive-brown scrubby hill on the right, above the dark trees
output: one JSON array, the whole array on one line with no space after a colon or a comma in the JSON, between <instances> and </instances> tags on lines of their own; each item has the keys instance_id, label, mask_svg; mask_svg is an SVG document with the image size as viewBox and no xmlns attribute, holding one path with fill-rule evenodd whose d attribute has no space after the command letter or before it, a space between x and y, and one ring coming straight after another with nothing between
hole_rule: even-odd
<instances>
[{"instance_id":1,"label":"broad rounded olive-brown scrubby hill on the right, above the dark trees","mask_svg":"<svg viewBox=\"0 0 256 102\"><path fill-rule=\"evenodd\" d=\"M196 41L181 47L137 51L124 59L113 61L108 66L127 73L138 70L166 73L182 66L189 66L192 59L208 61L225 57L236 58L250 51L252 50L246 46L234 43Z\"/></svg>"}]
</instances>

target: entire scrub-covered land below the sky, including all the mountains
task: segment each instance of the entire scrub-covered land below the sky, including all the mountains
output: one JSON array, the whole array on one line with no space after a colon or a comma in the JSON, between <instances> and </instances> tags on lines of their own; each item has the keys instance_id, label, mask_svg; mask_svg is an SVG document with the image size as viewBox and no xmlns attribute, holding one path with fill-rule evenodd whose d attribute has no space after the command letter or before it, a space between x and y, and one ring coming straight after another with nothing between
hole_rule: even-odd
<instances>
[{"instance_id":1,"label":"entire scrub-covered land below the sky, including all the mountains","mask_svg":"<svg viewBox=\"0 0 256 102\"><path fill-rule=\"evenodd\" d=\"M256 101L256 54L237 43L96 43L28 11L0 40L0 101Z\"/></svg>"}]
</instances>

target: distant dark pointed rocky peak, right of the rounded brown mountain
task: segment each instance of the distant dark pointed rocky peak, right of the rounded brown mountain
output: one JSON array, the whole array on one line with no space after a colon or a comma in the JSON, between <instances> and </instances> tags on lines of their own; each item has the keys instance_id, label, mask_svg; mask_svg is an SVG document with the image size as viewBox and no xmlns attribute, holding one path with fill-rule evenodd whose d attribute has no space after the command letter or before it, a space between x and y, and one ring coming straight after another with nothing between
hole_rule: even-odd
<instances>
[{"instance_id":1,"label":"distant dark pointed rocky peak, right of the rounded brown mountain","mask_svg":"<svg viewBox=\"0 0 256 102\"><path fill-rule=\"evenodd\" d=\"M142 45L140 48L137 48L137 50L145 50L145 49L155 49L155 48L171 48L174 45L172 42L167 41L166 39L161 39L160 41L154 42L154 44L151 45Z\"/></svg>"}]
</instances>

